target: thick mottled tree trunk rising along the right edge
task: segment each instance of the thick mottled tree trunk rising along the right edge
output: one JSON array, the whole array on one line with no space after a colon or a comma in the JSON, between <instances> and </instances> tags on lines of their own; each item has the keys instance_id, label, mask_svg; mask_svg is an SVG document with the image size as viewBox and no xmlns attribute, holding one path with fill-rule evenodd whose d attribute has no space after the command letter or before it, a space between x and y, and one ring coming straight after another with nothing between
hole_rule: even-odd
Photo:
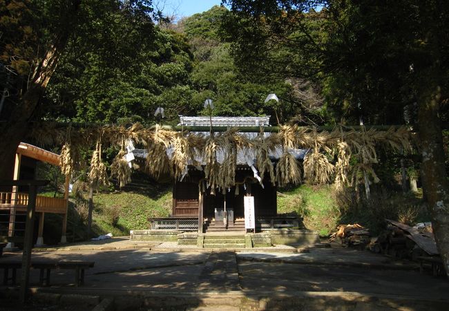
<instances>
[{"instance_id":1,"label":"thick mottled tree trunk rising along the right edge","mask_svg":"<svg viewBox=\"0 0 449 311\"><path fill-rule=\"evenodd\" d=\"M429 81L430 80L430 81ZM439 120L441 88L428 79L428 90L421 91L419 103L419 138L423 188L432 214L432 227L443 266L449 276L449 193L444 169L443 137Z\"/></svg>"}]
</instances>

